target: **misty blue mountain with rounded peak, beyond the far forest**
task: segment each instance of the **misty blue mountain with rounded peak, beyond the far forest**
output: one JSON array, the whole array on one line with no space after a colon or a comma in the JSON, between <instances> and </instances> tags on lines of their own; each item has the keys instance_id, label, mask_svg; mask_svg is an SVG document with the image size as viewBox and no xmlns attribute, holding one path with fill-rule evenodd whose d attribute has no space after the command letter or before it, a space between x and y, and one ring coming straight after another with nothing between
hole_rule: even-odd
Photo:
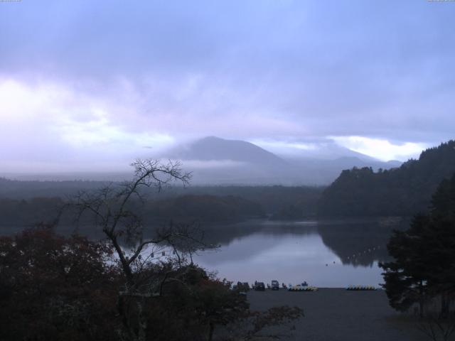
<instances>
[{"instance_id":1,"label":"misty blue mountain with rounded peak, beyond the far forest","mask_svg":"<svg viewBox=\"0 0 455 341\"><path fill-rule=\"evenodd\" d=\"M282 156L247 141L215 136L178 146L160 157L181 160L183 168L193 171L196 185L328 185L343 169L388 169L397 164L332 145L324 147L320 157L308 153Z\"/></svg>"}]
</instances>

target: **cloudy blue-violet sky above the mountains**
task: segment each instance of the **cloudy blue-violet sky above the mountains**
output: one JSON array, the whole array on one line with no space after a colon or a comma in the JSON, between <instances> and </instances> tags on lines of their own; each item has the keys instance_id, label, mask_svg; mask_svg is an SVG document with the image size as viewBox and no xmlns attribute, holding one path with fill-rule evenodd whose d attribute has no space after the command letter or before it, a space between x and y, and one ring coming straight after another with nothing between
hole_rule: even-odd
<instances>
[{"instance_id":1,"label":"cloudy blue-violet sky above the mountains","mask_svg":"<svg viewBox=\"0 0 455 341\"><path fill-rule=\"evenodd\" d=\"M455 2L0 1L0 171L220 136L405 161L454 138Z\"/></svg>"}]
</instances>

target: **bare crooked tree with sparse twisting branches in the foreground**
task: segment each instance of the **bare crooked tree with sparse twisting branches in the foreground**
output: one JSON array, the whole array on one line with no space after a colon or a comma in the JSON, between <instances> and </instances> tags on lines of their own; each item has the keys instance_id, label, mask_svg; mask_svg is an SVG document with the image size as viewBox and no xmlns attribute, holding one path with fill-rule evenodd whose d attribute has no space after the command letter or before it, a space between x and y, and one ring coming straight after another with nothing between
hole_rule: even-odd
<instances>
[{"instance_id":1,"label":"bare crooked tree with sparse twisting branches in the foreground","mask_svg":"<svg viewBox=\"0 0 455 341\"><path fill-rule=\"evenodd\" d=\"M147 264L151 264L154 252L160 251L165 243L173 249L178 266L181 266L183 254L191 256L197 247L203 246L203 236L193 225L170 224L156 230L154 237L144 237L142 217L136 210L137 202L144 202L144 190L154 187L160 191L174 181L188 185L191 173L183 172L181 164L172 161L163 164L157 160L138 159L131 166L134 167L133 180L107 185L95 192L79 193L71 205L75 207L78 219L89 213L95 226L102 230L114 248L125 280L118 303L127 331L124 337L143 341L147 328L145 300L159 296L165 281L170 280L165 274L150 283L151 277L144 274L149 274L153 268Z\"/></svg>"}]
</instances>

